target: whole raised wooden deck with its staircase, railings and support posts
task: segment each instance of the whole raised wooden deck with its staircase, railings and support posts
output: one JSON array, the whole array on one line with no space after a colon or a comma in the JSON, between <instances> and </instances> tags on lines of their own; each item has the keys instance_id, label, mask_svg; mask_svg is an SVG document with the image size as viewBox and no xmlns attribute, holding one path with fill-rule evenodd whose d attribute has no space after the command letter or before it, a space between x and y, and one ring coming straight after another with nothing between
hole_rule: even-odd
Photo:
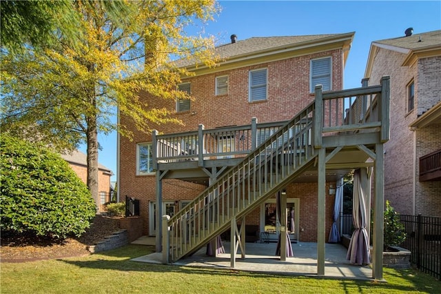
<instances>
[{"instance_id":1,"label":"whole raised wooden deck with its staircase, railings and support posts","mask_svg":"<svg viewBox=\"0 0 441 294\"><path fill-rule=\"evenodd\" d=\"M389 139L389 88L389 77L383 77L379 86L351 90L322 92L317 86L315 100L290 121L258 124L252 119L247 126L205 130L201 124L193 132L154 132L156 202L162 201L162 179L207 185L173 217L161 219L161 212L157 213L156 224L162 231L156 235L156 248L165 248L163 262L194 253L230 228L234 267L238 248L245 254L241 241L245 233L236 222L245 224L247 213L288 184L314 181L318 182L317 273L323 275L325 183L349 170L373 166L374 207L383 205L382 144ZM382 210L374 209L373 217L373 277L381 279L382 250L376 248L382 248Z\"/></svg>"}]
</instances>

